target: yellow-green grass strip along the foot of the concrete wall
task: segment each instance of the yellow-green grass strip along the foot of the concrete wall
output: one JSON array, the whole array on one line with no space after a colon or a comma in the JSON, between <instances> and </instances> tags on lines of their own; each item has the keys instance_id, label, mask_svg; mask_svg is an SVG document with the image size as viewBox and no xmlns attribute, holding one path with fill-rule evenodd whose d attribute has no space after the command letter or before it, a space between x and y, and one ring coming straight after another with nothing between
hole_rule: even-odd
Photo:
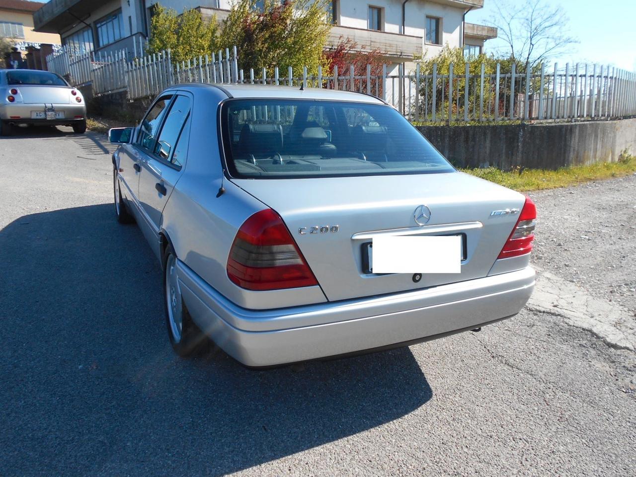
<instances>
[{"instance_id":1,"label":"yellow-green grass strip along the foot of the concrete wall","mask_svg":"<svg viewBox=\"0 0 636 477\"><path fill-rule=\"evenodd\" d=\"M636 172L636 157L623 151L618 162L599 162L591 165L562 167L557 170L523 169L507 172L495 167L460 170L514 190L530 191L555 189L597 181L598 179L628 176Z\"/></svg>"}]
</instances>

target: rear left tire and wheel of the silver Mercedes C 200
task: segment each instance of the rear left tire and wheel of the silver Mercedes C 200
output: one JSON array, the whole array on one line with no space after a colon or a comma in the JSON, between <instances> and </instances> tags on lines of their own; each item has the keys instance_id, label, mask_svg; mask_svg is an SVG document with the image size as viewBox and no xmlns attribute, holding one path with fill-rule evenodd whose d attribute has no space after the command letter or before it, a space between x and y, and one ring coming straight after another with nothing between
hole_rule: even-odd
<instances>
[{"instance_id":1,"label":"rear left tire and wheel of the silver Mercedes C 200","mask_svg":"<svg viewBox=\"0 0 636 477\"><path fill-rule=\"evenodd\" d=\"M170 345L176 354L188 357L209 350L209 338L192 321L181 296L181 286L177 280L177 256L170 244L163 253L163 305Z\"/></svg>"}]
</instances>

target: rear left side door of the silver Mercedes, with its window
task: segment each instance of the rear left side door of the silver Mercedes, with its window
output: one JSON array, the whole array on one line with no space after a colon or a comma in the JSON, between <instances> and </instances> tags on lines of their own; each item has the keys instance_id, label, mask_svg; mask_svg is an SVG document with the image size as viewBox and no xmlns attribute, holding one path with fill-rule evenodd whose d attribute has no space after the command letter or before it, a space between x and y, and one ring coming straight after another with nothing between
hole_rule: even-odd
<instances>
[{"instance_id":1,"label":"rear left side door of the silver Mercedes, with its window","mask_svg":"<svg viewBox=\"0 0 636 477\"><path fill-rule=\"evenodd\" d=\"M188 151L191 106L188 93L176 95L155 143L142 155L139 205L154 233L160 230L163 207L181 176Z\"/></svg>"}]
</instances>

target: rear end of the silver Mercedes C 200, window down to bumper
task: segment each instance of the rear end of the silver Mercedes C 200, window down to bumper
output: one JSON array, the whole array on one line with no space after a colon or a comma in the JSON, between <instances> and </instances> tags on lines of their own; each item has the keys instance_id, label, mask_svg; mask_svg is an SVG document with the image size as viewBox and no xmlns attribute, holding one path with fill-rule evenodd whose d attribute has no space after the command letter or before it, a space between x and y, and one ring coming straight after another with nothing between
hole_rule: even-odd
<instances>
[{"instance_id":1,"label":"rear end of the silver Mercedes C 200, window down to bumper","mask_svg":"<svg viewBox=\"0 0 636 477\"><path fill-rule=\"evenodd\" d=\"M532 201L457 172L391 107L233 99L221 132L228 193L258 205L223 280L187 260L179 278L197 324L242 363L438 338L515 315L532 293ZM374 273L373 240L386 236L459 237L460 273Z\"/></svg>"}]
</instances>

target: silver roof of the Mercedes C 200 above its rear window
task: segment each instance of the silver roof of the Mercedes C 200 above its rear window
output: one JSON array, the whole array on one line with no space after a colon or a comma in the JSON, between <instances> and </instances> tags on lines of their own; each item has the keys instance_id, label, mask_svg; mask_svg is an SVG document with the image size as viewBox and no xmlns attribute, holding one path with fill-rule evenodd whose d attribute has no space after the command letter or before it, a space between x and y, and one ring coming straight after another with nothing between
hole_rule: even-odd
<instances>
[{"instance_id":1,"label":"silver roof of the Mercedes C 200 above its rear window","mask_svg":"<svg viewBox=\"0 0 636 477\"><path fill-rule=\"evenodd\" d=\"M233 83L208 84L208 83L186 83L175 85L169 89L188 88L219 88L231 98L280 98L280 99L324 99L339 101L368 102L375 104L385 104L381 99L365 93L352 91L328 90L322 88L304 88L298 86L275 86L275 85L237 85Z\"/></svg>"}]
</instances>

